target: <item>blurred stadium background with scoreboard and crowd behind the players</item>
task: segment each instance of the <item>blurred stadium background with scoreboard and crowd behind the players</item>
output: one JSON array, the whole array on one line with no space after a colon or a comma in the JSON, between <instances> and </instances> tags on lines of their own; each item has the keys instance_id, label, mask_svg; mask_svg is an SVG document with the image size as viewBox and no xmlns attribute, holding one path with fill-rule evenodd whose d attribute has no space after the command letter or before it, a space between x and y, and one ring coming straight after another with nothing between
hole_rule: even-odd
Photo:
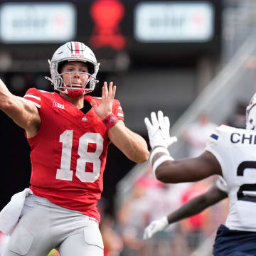
<instances>
[{"instance_id":1,"label":"blurred stadium background with scoreboard and crowd behind the players","mask_svg":"<svg viewBox=\"0 0 256 256\"><path fill-rule=\"evenodd\" d=\"M101 63L93 95L113 80L127 127L147 141L144 117L164 110L178 137L171 155L186 157L183 134L201 114L215 124L244 126L256 89L255 28L254 0L1 0L0 78L20 96L29 87L51 90L47 60L66 41L82 41ZM23 130L3 112L0 120L3 208L29 186L31 166ZM228 199L151 240L142 235L150 220L185 203L189 189L203 193L215 177L161 186L148 163L135 165L110 146L104 178L105 255L211 255Z\"/></svg>"}]
</instances>

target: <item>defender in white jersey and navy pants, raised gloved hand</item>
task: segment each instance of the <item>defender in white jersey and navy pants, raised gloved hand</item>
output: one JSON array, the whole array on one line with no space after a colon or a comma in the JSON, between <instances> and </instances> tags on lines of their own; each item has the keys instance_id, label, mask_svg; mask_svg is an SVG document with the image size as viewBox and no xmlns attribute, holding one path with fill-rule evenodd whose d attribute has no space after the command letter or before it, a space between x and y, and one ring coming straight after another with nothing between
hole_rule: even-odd
<instances>
[{"instance_id":1,"label":"defender in white jersey and navy pants, raised gloved hand","mask_svg":"<svg viewBox=\"0 0 256 256\"><path fill-rule=\"evenodd\" d=\"M198 157L174 160L167 147L169 118L163 112L145 118L154 174L164 183L199 181L214 174L228 186L229 212L220 225L213 246L215 256L256 255L256 94L247 107L246 129L222 125L211 134L206 150Z\"/></svg>"}]
</instances>

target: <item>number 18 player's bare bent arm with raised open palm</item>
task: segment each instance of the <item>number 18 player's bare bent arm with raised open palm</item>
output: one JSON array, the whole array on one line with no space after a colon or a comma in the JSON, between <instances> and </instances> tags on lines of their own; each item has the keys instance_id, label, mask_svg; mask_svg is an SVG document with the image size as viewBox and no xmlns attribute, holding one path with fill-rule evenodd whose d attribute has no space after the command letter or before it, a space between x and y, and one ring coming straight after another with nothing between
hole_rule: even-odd
<instances>
[{"instance_id":1,"label":"number 18 player's bare bent arm with raised open palm","mask_svg":"<svg viewBox=\"0 0 256 256\"><path fill-rule=\"evenodd\" d=\"M113 86L113 82L110 82L109 89L107 88L107 82L104 82L100 105L97 105L95 100L92 101L92 107L102 120L105 120L112 114L115 91L116 87ZM110 141L130 160L136 163L146 161L149 157L146 141L139 134L128 129L122 120L117 119L114 121L114 118L111 119L110 117L109 121L114 122L114 125L109 128L108 132Z\"/></svg>"}]
</instances>

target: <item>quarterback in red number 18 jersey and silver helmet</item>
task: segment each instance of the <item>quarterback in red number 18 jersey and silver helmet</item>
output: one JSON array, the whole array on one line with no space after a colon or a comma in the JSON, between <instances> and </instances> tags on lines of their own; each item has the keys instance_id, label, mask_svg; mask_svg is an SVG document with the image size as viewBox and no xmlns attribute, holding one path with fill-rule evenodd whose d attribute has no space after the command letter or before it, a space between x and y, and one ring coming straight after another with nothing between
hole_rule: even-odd
<instances>
[{"instance_id":1,"label":"quarterback in red number 18 jersey and silver helmet","mask_svg":"<svg viewBox=\"0 0 256 256\"><path fill-rule=\"evenodd\" d=\"M49 64L55 92L31 88L21 98L0 81L0 108L25 129L32 166L31 187L4 256L43 256L53 247L62 256L102 256L96 204L107 147L112 142L135 162L146 161L149 151L124 125L113 82L104 82L101 98L87 95L99 70L90 48L65 43Z\"/></svg>"}]
</instances>

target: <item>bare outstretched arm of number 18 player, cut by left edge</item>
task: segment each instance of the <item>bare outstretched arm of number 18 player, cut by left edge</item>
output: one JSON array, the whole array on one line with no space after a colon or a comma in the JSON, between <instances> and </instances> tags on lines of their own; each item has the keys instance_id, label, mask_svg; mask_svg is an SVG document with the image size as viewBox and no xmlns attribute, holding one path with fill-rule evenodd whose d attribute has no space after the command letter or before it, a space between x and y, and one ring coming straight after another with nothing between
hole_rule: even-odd
<instances>
[{"instance_id":1,"label":"bare outstretched arm of number 18 player, cut by left edge","mask_svg":"<svg viewBox=\"0 0 256 256\"><path fill-rule=\"evenodd\" d=\"M38 132L41 124L37 107L23 97L13 95L4 82L0 79L0 109L27 132L28 137L33 137Z\"/></svg>"}]
</instances>

